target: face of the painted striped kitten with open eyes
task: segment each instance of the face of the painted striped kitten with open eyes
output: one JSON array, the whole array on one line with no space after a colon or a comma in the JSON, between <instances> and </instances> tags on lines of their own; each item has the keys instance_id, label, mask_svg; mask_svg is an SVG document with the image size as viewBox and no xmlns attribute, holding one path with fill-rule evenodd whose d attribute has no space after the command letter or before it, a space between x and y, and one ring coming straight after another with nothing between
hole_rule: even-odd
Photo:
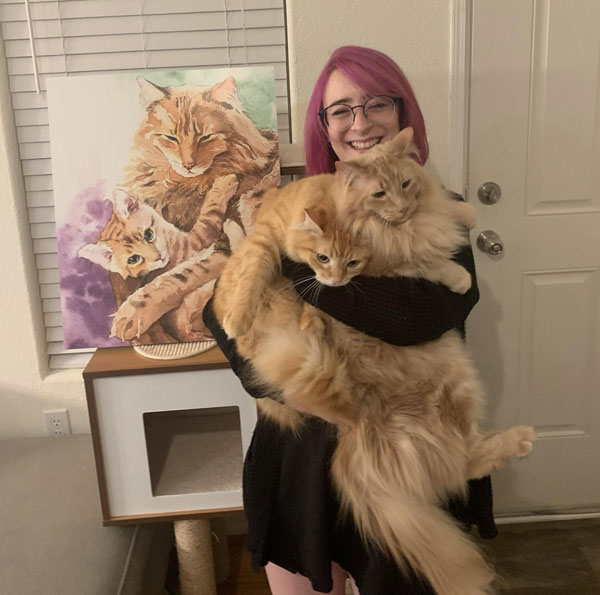
<instances>
[{"instance_id":1,"label":"face of the painted striped kitten with open eyes","mask_svg":"<svg viewBox=\"0 0 600 595\"><path fill-rule=\"evenodd\" d=\"M113 207L99 240L80 248L78 255L124 279L164 268L169 262L165 222L154 209L122 191L113 195Z\"/></svg>"}]
</instances>

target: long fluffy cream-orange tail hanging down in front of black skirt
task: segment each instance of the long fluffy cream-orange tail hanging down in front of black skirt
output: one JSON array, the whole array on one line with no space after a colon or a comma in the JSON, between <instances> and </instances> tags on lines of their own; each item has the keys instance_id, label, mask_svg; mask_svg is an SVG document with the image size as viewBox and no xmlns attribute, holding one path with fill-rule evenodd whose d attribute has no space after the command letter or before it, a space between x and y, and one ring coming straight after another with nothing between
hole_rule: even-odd
<instances>
[{"instance_id":1,"label":"long fluffy cream-orange tail hanging down in front of black skirt","mask_svg":"<svg viewBox=\"0 0 600 595\"><path fill-rule=\"evenodd\" d=\"M419 496L419 484L427 482L418 476L423 469L393 468L404 455L410 466L413 454L408 434L389 438L362 424L340 429L332 475L343 508L367 543L392 554L401 567L410 565L438 595L492 593L493 571L475 544Z\"/></svg>"}]
</instances>

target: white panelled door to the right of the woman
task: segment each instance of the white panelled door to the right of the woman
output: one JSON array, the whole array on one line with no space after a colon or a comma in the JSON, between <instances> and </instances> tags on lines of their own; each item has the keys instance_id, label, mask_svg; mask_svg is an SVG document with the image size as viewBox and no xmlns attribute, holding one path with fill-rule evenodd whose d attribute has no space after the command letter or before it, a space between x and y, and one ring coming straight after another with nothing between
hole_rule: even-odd
<instances>
[{"instance_id":1,"label":"white panelled door to the right of the woman","mask_svg":"<svg viewBox=\"0 0 600 595\"><path fill-rule=\"evenodd\" d=\"M539 436L494 474L495 508L599 510L600 2L472 5L468 194L474 236L495 231L504 253L474 247L468 343L490 420Z\"/></svg>"}]
</instances>

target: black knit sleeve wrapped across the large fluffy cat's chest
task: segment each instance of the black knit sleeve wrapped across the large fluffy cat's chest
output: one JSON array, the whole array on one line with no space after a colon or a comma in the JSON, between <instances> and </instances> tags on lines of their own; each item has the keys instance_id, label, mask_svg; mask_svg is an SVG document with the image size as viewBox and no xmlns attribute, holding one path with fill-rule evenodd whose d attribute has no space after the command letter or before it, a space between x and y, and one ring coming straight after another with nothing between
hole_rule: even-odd
<instances>
[{"instance_id":1,"label":"black knit sleeve wrapped across the large fluffy cat's chest","mask_svg":"<svg viewBox=\"0 0 600 595\"><path fill-rule=\"evenodd\" d=\"M470 246L454 260L471 273L471 289L464 295L445 285L409 277L358 276L344 287L303 291L314 273L304 264L284 259L283 274L310 304L358 331L393 345L418 345L458 328L479 300L475 263ZM307 277L311 277L308 281Z\"/></svg>"}]
</instances>

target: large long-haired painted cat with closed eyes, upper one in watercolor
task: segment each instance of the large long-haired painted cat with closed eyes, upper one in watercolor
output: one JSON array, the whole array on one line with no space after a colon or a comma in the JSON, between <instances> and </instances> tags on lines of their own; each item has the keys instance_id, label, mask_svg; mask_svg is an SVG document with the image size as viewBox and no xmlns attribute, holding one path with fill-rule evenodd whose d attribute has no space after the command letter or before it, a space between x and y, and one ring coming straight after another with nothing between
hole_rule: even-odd
<instances>
[{"instance_id":1,"label":"large long-haired painted cat with closed eyes, upper one in watercolor","mask_svg":"<svg viewBox=\"0 0 600 595\"><path fill-rule=\"evenodd\" d=\"M143 77L138 78L138 84L144 117L121 185L169 223L191 231L216 180L235 172L238 188L226 208L204 209L204 230L196 231L224 244L228 242L226 221L235 222L247 233L261 192L280 180L276 133L257 128L247 116L233 77L205 88L160 87ZM114 272L110 281L117 307L141 287L140 278L125 278ZM153 316L149 313L147 318L150 314ZM199 317L198 324L202 324ZM210 338L206 329L203 334ZM181 333L176 331L176 335ZM172 341L160 324L135 338L139 343Z\"/></svg>"}]
</instances>

